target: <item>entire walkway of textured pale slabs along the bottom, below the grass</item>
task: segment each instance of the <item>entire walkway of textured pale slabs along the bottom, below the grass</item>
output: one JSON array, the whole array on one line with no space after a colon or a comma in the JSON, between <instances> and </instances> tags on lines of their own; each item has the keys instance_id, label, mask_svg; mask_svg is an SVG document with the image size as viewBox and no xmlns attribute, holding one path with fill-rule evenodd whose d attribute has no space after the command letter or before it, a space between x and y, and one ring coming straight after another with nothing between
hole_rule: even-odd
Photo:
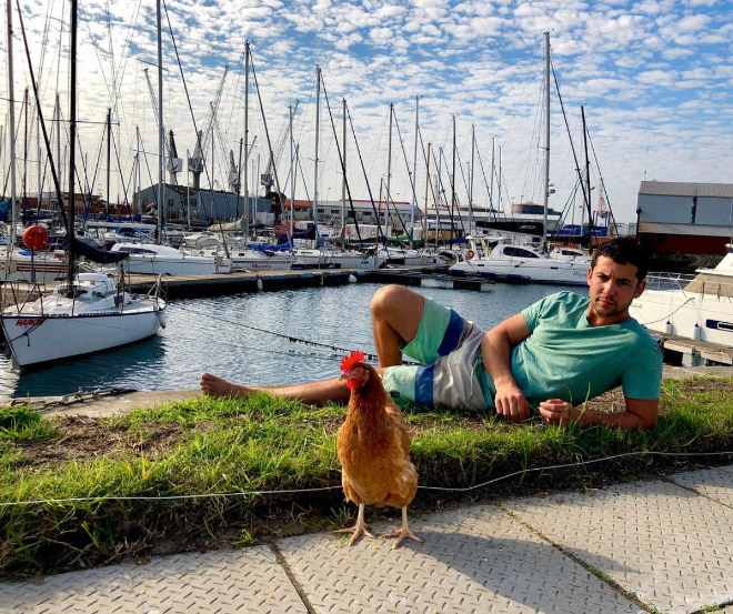
<instances>
[{"instance_id":1,"label":"entire walkway of textured pale slabs along the bottom, below the grass","mask_svg":"<svg viewBox=\"0 0 733 614\"><path fill-rule=\"evenodd\" d=\"M733 466L411 525L424 542L396 551L313 534L0 583L0 612L639 614L733 602Z\"/></svg>"}]
</instances>

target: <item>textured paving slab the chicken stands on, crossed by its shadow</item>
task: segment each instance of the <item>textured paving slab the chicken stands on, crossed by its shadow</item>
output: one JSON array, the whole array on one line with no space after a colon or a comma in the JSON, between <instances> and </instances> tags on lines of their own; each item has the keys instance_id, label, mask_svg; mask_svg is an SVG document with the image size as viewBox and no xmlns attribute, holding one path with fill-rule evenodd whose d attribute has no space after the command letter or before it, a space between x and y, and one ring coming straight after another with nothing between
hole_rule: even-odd
<instances>
[{"instance_id":1,"label":"textured paving slab the chicken stands on, crossed by its shadow","mask_svg":"<svg viewBox=\"0 0 733 614\"><path fill-rule=\"evenodd\" d=\"M369 520L369 509L366 511ZM378 533L396 529L374 526ZM411 523L424 542L305 535L278 545L317 613L637 614L640 607L495 506ZM615 564L604 561L606 566Z\"/></svg>"}]
</instances>

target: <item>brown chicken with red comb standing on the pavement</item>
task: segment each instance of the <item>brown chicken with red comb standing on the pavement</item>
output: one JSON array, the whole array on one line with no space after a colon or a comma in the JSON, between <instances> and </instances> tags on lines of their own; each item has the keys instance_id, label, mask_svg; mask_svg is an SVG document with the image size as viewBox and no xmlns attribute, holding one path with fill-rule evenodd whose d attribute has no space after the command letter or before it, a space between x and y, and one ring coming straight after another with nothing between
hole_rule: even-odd
<instances>
[{"instance_id":1,"label":"brown chicken with red comb standing on the pavement","mask_svg":"<svg viewBox=\"0 0 733 614\"><path fill-rule=\"evenodd\" d=\"M365 362L363 352L351 352L341 361L341 380L351 390L349 412L337 437L341 481L347 501L359 505L349 545L361 535L373 537L364 523L364 505L402 509L402 527L383 537L396 537L392 547L405 538L421 542L408 526L408 505L418 492L418 471L410 462L412 436L402 412L382 386L376 371Z\"/></svg>"}]
</instances>

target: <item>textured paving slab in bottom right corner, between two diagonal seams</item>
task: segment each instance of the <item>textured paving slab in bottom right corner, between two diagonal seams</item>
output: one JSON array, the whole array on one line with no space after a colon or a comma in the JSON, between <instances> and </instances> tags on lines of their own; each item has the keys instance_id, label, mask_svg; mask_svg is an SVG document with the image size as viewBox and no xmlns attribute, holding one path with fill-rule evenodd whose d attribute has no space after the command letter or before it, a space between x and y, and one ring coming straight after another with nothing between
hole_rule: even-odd
<instances>
[{"instance_id":1,"label":"textured paving slab in bottom right corner, between two diagonal seams","mask_svg":"<svg viewBox=\"0 0 733 614\"><path fill-rule=\"evenodd\" d=\"M733 510L675 484L622 484L504 505L663 612L733 600Z\"/></svg>"}]
</instances>

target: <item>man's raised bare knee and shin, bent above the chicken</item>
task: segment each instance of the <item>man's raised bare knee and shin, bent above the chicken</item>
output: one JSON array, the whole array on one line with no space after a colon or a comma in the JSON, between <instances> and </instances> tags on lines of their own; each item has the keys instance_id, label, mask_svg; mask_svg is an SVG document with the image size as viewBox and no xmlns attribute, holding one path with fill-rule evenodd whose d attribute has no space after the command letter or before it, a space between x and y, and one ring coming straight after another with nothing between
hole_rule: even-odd
<instances>
[{"instance_id":1,"label":"man's raised bare knee and shin, bent above the chicken","mask_svg":"<svg viewBox=\"0 0 733 614\"><path fill-rule=\"evenodd\" d=\"M380 366L402 364L400 343L418 334L425 298L402 285L384 285L374 292L370 310Z\"/></svg>"}]
</instances>

